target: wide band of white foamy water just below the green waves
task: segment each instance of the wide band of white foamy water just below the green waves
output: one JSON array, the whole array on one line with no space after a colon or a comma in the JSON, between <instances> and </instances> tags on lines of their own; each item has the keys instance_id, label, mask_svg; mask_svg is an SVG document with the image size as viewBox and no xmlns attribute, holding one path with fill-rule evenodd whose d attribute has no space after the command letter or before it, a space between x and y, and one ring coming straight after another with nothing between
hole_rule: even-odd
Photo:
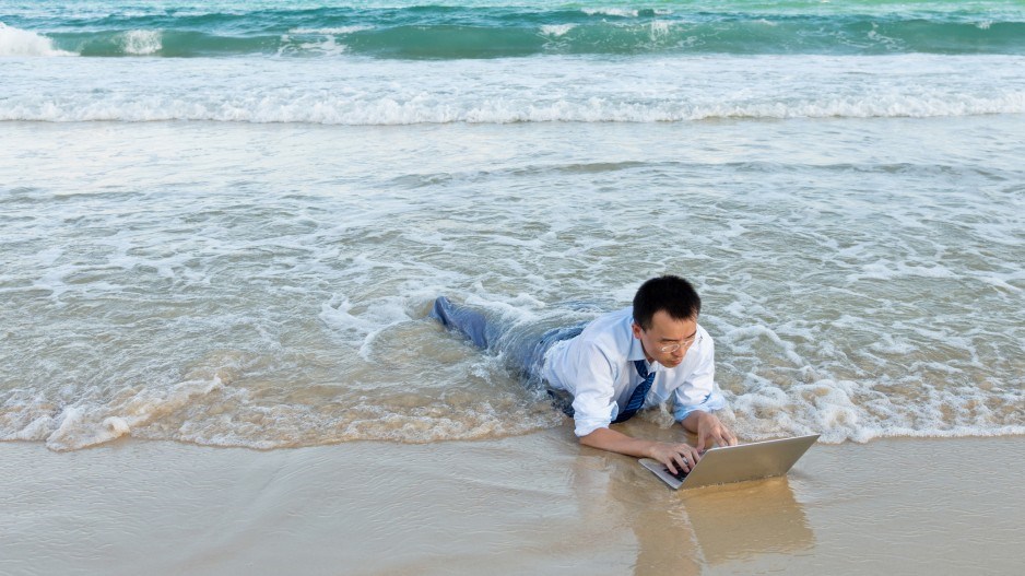
<instances>
[{"instance_id":1,"label":"wide band of white foamy water just below the green waves","mask_svg":"<svg viewBox=\"0 0 1025 576\"><path fill-rule=\"evenodd\" d=\"M140 37L134 49L140 54L156 49L155 37ZM282 50L347 54L334 36L286 42ZM947 60L922 56L668 58L641 67L561 57L534 60L530 67L517 59L428 63L355 59L341 68L309 58L221 60L219 70L233 82L211 83L201 59L146 61L145 67L132 59L90 59L75 69L46 74L10 70L5 81L22 90L0 102L0 120L388 126L1025 114L1025 92L1016 90L1013 74L1003 71L1025 69L1025 59L951 59L977 72L967 79L952 73ZM909 69L915 73L907 73ZM420 81L404 82L409 74ZM133 81L110 91L104 79L111 75ZM691 77L707 80L683 85L676 81ZM779 82L790 77L791 90L780 93ZM176 82L168 83L167 78ZM293 78L313 81L295 83ZM82 90L68 93L63 86L69 84ZM744 90L735 90L739 84ZM646 89L638 92L636 86Z\"/></svg>"}]
</instances>

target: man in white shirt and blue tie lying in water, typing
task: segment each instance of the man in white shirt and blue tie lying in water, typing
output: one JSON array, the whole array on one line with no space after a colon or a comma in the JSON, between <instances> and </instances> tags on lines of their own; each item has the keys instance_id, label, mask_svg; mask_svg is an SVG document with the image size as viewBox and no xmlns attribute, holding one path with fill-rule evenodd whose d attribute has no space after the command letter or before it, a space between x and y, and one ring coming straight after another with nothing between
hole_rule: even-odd
<instances>
[{"instance_id":1,"label":"man in white shirt and blue tie lying in water, typing","mask_svg":"<svg viewBox=\"0 0 1025 576\"><path fill-rule=\"evenodd\" d=\"M715 344L697 324L700 308L700 297L686 280L653 278L637 290L632 307L601 316L582 331L545 334L522 354L525 367L573 396L580 444L652 458L673 473L688 472L712 443L737 444L712 414L726 401L715 384ZM482 348L500 337L482 315L444 297L435 302L431 315ZM610 427L670 395L675 420L697 434L697 446L634 438Z\"/></svg>"}]
</instances>

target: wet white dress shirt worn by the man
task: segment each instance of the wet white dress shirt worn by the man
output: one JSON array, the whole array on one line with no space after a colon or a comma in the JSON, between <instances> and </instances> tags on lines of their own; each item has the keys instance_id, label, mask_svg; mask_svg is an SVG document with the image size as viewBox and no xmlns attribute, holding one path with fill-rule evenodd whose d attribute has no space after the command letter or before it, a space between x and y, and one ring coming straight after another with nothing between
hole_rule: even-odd
<instances>
[{"instance_id":1,"label":"wet white dress shirt worn by the man","mask_svg":"<svg viewBox=\"0 0 1025 576\"><path fill-rule=\"evenodd\" d=\"M683 362L674 368L648 363L631 325L633 307L606 314L569 340L556 342L544 356L542 375L552 388L573 395L577 436L608 427L626 408L634 389L644 381L634 361L643 360L655 381L644 408L673 395L673 418L681 421L695 410L710 412L726 407L716 385L715 343L700 326Z\"/></svg>"}]
</instances>

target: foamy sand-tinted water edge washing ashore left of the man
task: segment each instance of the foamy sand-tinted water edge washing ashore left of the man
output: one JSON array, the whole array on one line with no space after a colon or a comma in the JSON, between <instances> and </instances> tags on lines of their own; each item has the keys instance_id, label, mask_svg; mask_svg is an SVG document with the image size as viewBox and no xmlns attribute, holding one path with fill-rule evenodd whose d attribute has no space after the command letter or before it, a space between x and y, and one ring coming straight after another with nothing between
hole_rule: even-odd
<instances>
[{"instance_id":1,"label":"foamy sand-tinted water edge washing ashore left of the man","mask_svg":"<svg viewBox=\"0 0 1025 576\"><path fill-rule=\"evenodd\" d=\"M491 383L507 378L495 358L469 350L464 355L472 357L472 363L462 363L460 369L469 371L471 378ZM325 407L319 402L267 403L266 393L257 398L244 388L226 389L215 378L181 383L164 391L126 389L108 400L92 396L57 412L36 399L22 407L23 420L28 421L19 430L0 428L0 439L42 440L58 451L122 436L271 449L350 440L425 443L502 437L562 422L563 415L552 411L546 400L512 386L517 392L492 386L460 390L445 383L446 390L432 398L416 390L381 396L378 385L363 395L349 396L343 403L331 401ZM347 383L345 390L354 388L358 391L358 383ZM8 401L3 408L5 418L0 423L11 420L15 407ZM33 412L37 415L30 418ZM40 412L47 413L38 415Z\"/></svg>"}]
</instances>

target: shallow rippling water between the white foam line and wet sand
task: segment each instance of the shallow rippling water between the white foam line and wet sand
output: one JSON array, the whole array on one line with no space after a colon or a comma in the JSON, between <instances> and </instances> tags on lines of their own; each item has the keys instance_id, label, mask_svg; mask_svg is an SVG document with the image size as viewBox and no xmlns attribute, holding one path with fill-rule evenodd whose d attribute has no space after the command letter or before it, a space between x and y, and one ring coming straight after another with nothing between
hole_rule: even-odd
<instances>
[{"instance_id":1,"label":"shallow rippling water between the white foam line and wet sand","mask_svg":"<svg viewBox=\"0 0 1025 576\"><path fill-rule=\"evenodd\" d=\"M55 448L518 434L561 416L432 298L568 324L676 272L746 437L1021 433L1023 128L8 124L0 422Z\"/></svg>"}]
</instances>

